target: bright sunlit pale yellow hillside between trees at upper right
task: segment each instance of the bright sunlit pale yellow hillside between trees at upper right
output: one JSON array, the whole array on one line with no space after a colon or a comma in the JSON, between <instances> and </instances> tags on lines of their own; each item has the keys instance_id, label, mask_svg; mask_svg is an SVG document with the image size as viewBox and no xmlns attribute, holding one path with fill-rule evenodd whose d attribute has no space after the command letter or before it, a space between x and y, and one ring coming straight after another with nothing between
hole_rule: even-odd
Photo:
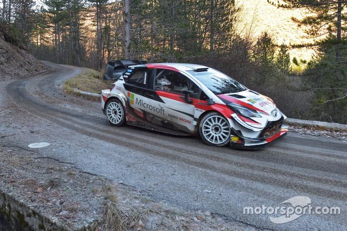
<instances>
[{"instance_id":1,"label":"bright sunlit pale yellow hillside between trees at upper right","mask_svg":"<svg viewBox=\"0 0 347 231\"><path fill-rule=\"evenodd\" d=\"M277 3L277 0L272 1ZM237 25L237 30L242 35L257 38L262 32L267 31L279 45L313 42L313 39L308 39L305 33L306 28L299 27L291 20L291 17L303 18L307 14L304 8L278 8L267 0L236 0L236 3L242 6L241 22ZM309 60L313 52L308 48L292 49L290 56Z\"/></svg>"}]
</instances>

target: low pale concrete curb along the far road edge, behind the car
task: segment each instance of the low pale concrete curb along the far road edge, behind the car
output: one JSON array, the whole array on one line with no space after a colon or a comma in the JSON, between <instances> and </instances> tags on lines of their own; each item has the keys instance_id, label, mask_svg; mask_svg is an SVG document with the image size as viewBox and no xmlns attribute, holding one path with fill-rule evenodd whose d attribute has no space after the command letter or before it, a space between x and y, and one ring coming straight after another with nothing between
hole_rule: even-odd
<instances>
[{"instance_id":1,"label":"low pale concrete curb along the far road edge, behind the car","mask_svg":"<svg viewBox=\"0 0 347 231\"><path fill-rule=\"evenodd\" d=\"M85 92L77 88L73 88L72 90L76 93L79 93L85 96L101 97L101 94ZM329 123L329 122L321 122L321 121L315 121L315 120L287 118L285 120L285 124L292 125L292 126L301 126L301 127L317 127L321 129L334 130L334 131L347 131L347 124Z\"/></svg>"}]
</instances>

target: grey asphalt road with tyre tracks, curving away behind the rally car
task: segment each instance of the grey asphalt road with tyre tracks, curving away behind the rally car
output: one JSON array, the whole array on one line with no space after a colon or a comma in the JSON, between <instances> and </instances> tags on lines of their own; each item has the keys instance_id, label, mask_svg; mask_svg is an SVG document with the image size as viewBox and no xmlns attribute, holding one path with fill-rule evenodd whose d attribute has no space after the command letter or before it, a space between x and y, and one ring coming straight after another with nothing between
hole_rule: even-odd
<instances>
[{"instance_id":1,"label":"grey asphalt road with tyre tracks, curving away behind the rally car","mask_svg":"<svg viewBox=\"0 0 347 231\"><path fill-rule=\"evenodd\" d=\"M80 68L46 64L50 72L0 87L1 133L15 134L1 143L49 142L36 151L245 228L347 230L347 142L289 133L263 150L242 151L210 147L197 137L113 127L99 102L61 91ZM271 222L275 215L267 213L243 214L244 207L275 208L295 196L309 197L313 208L340 207L341 214L305 214L285 224Z\"/></svg>"}]
</instances>

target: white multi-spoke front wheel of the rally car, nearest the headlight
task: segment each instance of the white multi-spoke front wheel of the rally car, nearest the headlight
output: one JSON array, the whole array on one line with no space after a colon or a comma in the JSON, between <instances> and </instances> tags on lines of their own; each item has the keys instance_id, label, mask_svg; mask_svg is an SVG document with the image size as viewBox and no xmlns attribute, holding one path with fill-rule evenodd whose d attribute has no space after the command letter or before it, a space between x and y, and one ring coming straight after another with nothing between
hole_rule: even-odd
<instances>
[{"instance_id":1,"label":"white multi-spoke front wheel of the rally car, nearest the headlight","mask_svg":"<svg viewBox=\"0 0 347 231\"><path fill-rule=\"evenodd\" d=\"M200 121L201 139L208 145L223 147L230 142L230 125L228 120L217 112L206 114Z\"/></svg>"}]
</instances>

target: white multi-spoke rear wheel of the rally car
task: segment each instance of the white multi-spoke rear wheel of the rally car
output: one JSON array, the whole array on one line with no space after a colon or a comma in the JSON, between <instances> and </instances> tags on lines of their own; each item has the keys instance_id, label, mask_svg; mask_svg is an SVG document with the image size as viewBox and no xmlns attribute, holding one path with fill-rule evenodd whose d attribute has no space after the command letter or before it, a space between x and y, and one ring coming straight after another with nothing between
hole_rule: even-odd
<instances>
[{"instance_id":1,"label":"white multi-spoke rear wheel of the rally car","mask_svg":"<svg viewBox=\"0 0 347 231\"><path fill-rule=\"evenodd\" d=\"M126 122L124 107L118 99L112 99L107 103L106 116L109 122L117 127Z\"/></svg>"}]
</instances>

